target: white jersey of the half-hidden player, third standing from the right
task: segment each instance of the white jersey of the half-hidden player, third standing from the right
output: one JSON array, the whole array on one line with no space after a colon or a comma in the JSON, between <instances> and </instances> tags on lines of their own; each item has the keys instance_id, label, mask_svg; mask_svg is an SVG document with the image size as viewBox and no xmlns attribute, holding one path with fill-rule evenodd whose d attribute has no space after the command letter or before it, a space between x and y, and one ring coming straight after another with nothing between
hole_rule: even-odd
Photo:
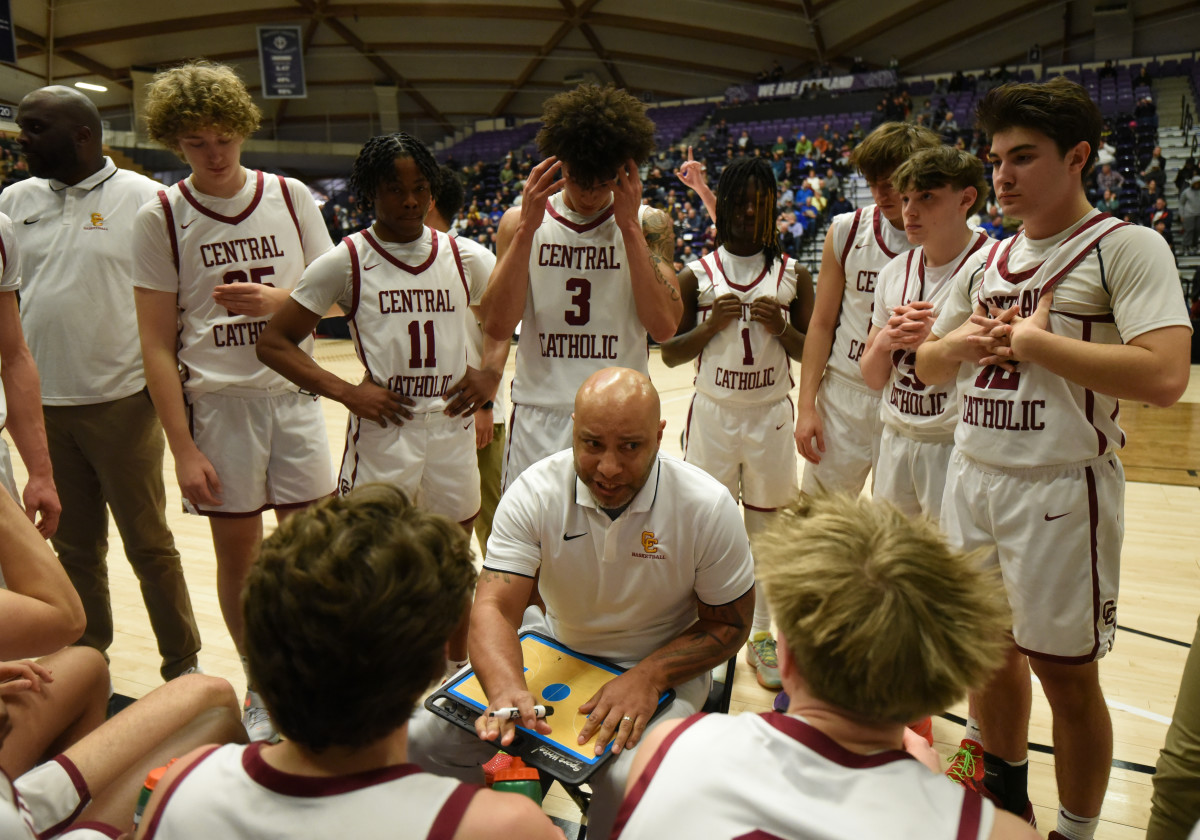
<instances>
[{"instance_id":1,"label":"white jersey of the half-hidden player, third standing from the right","mask_svg":"<svg viewBox=\"0 0 1200 840\"><path fill-rule=\"evenodd\" d=\"M874 204L834 217L829 223L834 251L846 275L841 311L833 334L826 373L860 391L878 394L863 383L858 360L866 349L875 305L875 278L896 254L912 250L904 230L892 227Z\"/></svg>"}]
</instances>

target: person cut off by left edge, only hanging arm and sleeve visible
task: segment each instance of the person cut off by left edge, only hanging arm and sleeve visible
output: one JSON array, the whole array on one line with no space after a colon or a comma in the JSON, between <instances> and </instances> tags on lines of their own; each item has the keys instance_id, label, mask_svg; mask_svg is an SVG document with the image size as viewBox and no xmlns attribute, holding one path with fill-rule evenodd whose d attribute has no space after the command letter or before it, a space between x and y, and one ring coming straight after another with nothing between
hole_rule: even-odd
<instances>
[{"instance_id":1,"label":"person cut off by left edge, only hanging arm and sleeve visible","mask_svg":"<svg viewBox=\"0 0 1200 840\"><path fill-rule=\"evenodd\" d=\"M62 505L54 486L54 470L46 445L37 365L20 329L18 289L20 258L17 238L12 220L0 212L0 379L4 383L0 388L0 428L8 430L29 475L24 493L18 492L8 444L0 440L0 485L22 503L30 521L37 523L38 533L49 539L58 530ZM4 586L2 577L0 586Z\"/></svg>"}]
</instances>

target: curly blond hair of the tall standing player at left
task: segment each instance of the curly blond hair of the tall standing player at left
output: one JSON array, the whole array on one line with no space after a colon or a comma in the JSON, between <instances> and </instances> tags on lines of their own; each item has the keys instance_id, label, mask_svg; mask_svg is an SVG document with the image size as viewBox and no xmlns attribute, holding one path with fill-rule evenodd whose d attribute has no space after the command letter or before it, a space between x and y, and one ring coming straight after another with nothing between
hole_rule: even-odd
<instances>
[{"instance_id":1,"label":"curly blond hair of the tall standing player at left","mask_svg":"<svg viewBox=\"0 0 1200 840\"><path fill-rule=\"evenodd\" d=\"M250 137L262 118L238 73L223 64L198 59L157 73L146 85L146 134L176 155L182 134L214 130Z\"/></svg>"}]
</instances>

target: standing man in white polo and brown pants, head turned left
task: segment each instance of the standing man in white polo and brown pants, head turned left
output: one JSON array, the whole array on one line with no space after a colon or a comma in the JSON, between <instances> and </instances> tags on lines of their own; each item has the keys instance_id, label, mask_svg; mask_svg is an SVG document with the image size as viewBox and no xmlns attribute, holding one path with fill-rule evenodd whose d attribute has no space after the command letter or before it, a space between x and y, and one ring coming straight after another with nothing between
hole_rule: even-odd
<instances>
[{"instance_id":1,"label":"standing man in white polo and brown pants, head turned left","mask_svg":"<svg viewBox=\"0 0 1200 840\"><path fill-rule=\"evenodd\" d=\"M158 644L158 672L173 679L197 666L200 634L167 524L166 440L146 394L130 286L137 211L160 185L104 155L100 112L79 90L32 91L17 124L34 178L0 192L0 210L19 222L20 320L64 508L52 544L88 616L77 640L101 653L113 643L112 511ZM12 410L29 410L25 400L12 400Z\"/></svg>"}]
</instances>

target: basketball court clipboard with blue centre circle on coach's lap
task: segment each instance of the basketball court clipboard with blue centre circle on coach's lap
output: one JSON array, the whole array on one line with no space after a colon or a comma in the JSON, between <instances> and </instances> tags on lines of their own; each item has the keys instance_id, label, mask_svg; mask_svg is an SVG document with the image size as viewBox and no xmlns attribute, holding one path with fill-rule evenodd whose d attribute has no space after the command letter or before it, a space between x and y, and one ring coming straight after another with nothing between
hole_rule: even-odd
<instances>
[{"instance_id":1,"label":"basketball court clipboard with blue centre circle on coach's lap","mask_svg":"<svg viewBox=\"0 0 1200 840\"><path fill-rule=\"evenodd\" d=\"M541 734L518 726L516 738L504 751L562 781L584 782L612 756L612 743L599 756L594 755L594 736L586 744L578 744L587 716L577 709L625 668L584 656L539 632L523 632L520 641L526 684L534 702L554 707L554 714L547 719L553 732ZM667 689L659 697L654 718L673 700L674 689ZM475 719L487 708L487 696L475 672L467 671L431 694L425 700L425 708L474 733Z\"/></svg>"}]
</instances>

